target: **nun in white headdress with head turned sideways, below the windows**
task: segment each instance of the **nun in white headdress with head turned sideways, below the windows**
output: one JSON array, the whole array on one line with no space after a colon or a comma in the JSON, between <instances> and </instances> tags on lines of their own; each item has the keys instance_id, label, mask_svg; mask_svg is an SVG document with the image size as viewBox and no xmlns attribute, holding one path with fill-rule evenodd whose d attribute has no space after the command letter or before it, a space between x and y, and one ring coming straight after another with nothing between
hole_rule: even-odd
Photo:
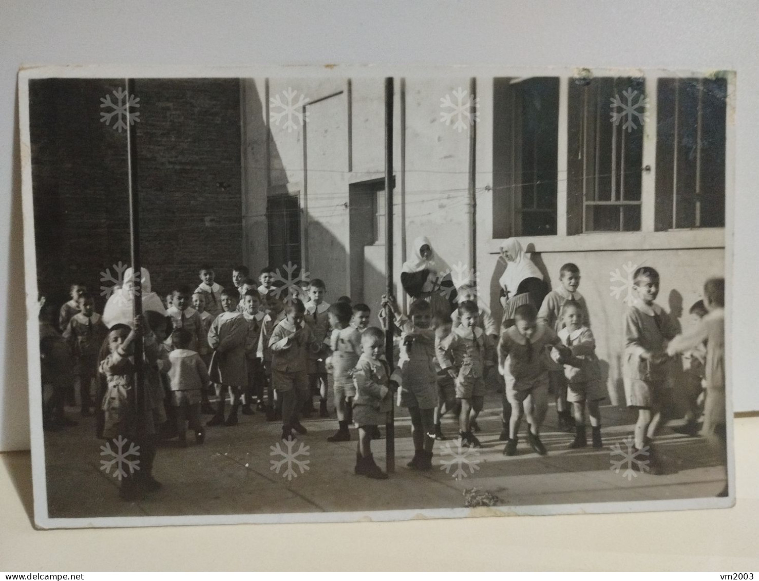
<instances>
[{"instance_id":1,"label":"nun in white headdress with head turned sideways, below the windows","mask_svg":"<svg viewBox=\"0 0 759 581\"><path fill-rule=\"evenodd\" d=\"M498 281L503 306L503 330L512 326L517 307L530 304L537 310L547 293L543 273L524 254L516 238L508 238L503 242L501 257L506 263L506 270Z\"/></svg>"}]
</instances>

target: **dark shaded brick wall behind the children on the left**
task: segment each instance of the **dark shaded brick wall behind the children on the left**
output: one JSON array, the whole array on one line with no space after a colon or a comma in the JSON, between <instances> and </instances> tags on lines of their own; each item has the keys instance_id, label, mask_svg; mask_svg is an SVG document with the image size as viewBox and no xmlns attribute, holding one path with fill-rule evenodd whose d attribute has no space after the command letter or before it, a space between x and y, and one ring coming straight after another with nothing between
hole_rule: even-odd
<instances>
[{"instance_id":1,"label":"dark shaded brick wall behind the children on the left","mask_svg":"<svg viewBox=\"0 0 759 581\"><path fill-rule=\"evenodd\" d=\"M55 302L77 281L99 294L100 273L129 261L126 134L100 121L100 99L118 87L30 85L38 283ZM140 248L153 289L197 284L204 262L226 284L242 257L239 82L140 80L134 93Z\"/></svg>"}]
</instances>

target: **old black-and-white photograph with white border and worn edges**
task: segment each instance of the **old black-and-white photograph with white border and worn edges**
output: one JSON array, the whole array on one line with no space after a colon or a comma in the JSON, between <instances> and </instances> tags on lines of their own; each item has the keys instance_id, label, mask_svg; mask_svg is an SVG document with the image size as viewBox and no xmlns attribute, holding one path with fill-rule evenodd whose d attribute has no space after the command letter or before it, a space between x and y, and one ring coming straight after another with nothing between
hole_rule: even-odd
<instances>
[{"instance_id":1,"label":"old black-and-white photograph with white border and worn edges","mask_svg":"<svg viewBox=\"0 0 759 581\"><path fill-rule=\"evenodd\" d=\"M38 526L732 506L734 73L19 87Z\"/></svg>"}]
</instances>

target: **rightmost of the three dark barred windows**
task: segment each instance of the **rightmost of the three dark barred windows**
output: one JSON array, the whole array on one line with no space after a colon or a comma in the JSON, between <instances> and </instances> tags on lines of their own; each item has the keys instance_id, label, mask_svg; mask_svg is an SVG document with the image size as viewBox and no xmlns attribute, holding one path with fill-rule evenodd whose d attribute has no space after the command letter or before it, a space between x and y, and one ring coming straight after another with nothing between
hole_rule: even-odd
<instances>
[{"instance_id":1,"label":"rightmost of the three dark barred windows","mask_svg":"<svg viewBox=\"0 0 759 581\"><path fill-rule=\"evenodd\" d=\"M725 226L727 81L657 83L657 230Z\"/></svg>"}]
</instances>

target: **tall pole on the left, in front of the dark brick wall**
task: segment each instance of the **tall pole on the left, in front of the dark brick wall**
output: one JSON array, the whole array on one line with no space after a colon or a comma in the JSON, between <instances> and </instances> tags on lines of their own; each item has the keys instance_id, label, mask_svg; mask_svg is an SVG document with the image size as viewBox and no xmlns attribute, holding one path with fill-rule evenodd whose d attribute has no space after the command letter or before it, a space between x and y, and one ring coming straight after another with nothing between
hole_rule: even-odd
<instances>
[{"instance_id":1,"label":"tall pole on the left, in front of the dark brick wall","mask_svg":"<svg viewBox=\"0 0 759 581\"><path fill-rule=\"evenodd\" d=\"M134 95L134 79L127 79L127 95ZM134 317L142 314L142 263L140 261L140 192L137 187L137 129L132 128L127 111L127 170L129 192L129 231L132 263L132 304ZM143 435L145 405L143 372L143 338L134 340L134 404L137 412L137 434Z\"/></svg>"}]
</instances>

